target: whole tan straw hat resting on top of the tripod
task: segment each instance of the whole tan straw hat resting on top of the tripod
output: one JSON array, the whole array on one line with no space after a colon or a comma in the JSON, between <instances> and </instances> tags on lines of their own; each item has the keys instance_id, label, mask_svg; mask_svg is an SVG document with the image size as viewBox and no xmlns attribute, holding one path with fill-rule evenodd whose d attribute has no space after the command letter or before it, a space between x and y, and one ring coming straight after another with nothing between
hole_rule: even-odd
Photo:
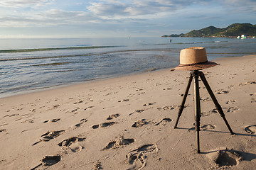
<instances>
[{"instance_id":1,"label":"whole tan straw hat resting on top of the tripod","mask_svg":"<svg viewBox=\"0 0 256 170\"><path fill-rule=\"evenodd\" d=\"M181 50L180 64L174 69L193 71L214 67L215 65L218 64L207 60L206 49L204 47L188 47Z\"/></svg>"}]
</instances>

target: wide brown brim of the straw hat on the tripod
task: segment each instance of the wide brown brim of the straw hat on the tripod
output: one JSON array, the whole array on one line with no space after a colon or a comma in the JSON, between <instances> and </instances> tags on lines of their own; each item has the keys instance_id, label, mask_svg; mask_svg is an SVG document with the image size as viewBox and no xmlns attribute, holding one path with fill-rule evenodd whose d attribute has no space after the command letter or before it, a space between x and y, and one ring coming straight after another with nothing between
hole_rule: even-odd
<instances>
[{"instance_id":1,"label":"wide brown brim of the straw hat on the tripod","mask_svg":"<svg viewBox=\"0 0 256 170\"><path fill-rule=\"evenodd\" d=\"M219 65L215 62L204 62L202 64L189 64L189 65L179 65L178 67L175 67L174 69L171 69L171 71L173 70L188 70L188 71L194 71L194 70L201 70L201 69L207 69L210 67L214 67L216 65Z\"/></svg>"}]
</instances>

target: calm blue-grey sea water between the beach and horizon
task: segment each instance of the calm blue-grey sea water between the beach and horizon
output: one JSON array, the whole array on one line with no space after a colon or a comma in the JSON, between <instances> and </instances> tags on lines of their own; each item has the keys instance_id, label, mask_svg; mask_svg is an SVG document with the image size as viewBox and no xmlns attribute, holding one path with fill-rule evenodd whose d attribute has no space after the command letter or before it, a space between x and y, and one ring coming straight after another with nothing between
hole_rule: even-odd
<instances>
[{"instance_id":1,"label":"calm blue-grey sea water between the beach and horizon","mask_svg":"<svg viewBox=\"0 0 256 170\"><path fill-rule=\"evenodd\" d=\"M256 39L171 39L0 39L0 98L176 67L186 47L205 47L208 60L256 54Z\"/></svg>"}]
</instances>

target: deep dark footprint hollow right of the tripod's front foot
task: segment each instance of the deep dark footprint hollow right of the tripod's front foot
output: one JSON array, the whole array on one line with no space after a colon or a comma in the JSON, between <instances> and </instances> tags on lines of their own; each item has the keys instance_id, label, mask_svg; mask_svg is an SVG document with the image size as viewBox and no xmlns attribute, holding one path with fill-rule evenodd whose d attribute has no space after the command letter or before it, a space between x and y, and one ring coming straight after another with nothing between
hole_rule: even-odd
<instances>
[{"instance_id":1,"label":"deep dark footprint hollow right of the tripod's front foot","mask_svg":"<svg viewBox=\"0 0 256 170\"><path fill-rule=\"evenodd\" d=\"M228 168L230 166L237 166L242 159L242 156L234 149L220 149L216 152L209 152L207 154L215 164L222 168Z\"/></svg>"}]
</instances>

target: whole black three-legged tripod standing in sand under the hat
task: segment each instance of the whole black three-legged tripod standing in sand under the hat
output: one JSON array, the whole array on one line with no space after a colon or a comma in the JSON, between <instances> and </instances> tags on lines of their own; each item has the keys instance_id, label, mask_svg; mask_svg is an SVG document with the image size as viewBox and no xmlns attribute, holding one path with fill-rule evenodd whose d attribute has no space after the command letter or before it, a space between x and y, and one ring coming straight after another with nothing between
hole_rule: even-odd
<instances>
[{"instance_id":1,"label":"whole black three-legged tripod standing in sand under the hat","mask_svg":"<svg viewBox=\"0 0 256 170\"><path fill-rule=\"evenodd\" d=\"M235 133L232 131L232 129L230 128L230 125L228 125L228 121L225 118L225 115L223 113L223 109L221 108L220 104L218 103L217 99L215 98L213 91L210 89L210 86L206 80L206 77L204 76L203 72L195 70L193 72L191 72L191 75L188 79L188 86L186 87L186 91L185 94L183 96L183 100L181 103L181 107L178 110L178 118L176 120L176 123L174 125L174 129L177 128L178 125L178 120L181 117L181 113L183 111L185 102L186 102L186 98L188 96L188 91L189 88L191 86L191 81L194 78L194 98L195 98L195 121L196 121L196 140L197 140L197 152L200 153L200 145L199 145L199 131L200 131L200 117L201 117L201 107L200 107L200 96L199 96L199 84L198 84L198 77L201 78L201 80L203 81L203 84L206 86L206 89L208 91L208 93L210 94L210 97L213 99L213 103L215 104L215 107L218 111L218 113L220 113L220 116L223 118L223 120L225 121L225 124L228 126L228 130L230 131L231 135L234 135Z\"/></svg>"}]
</instances>

